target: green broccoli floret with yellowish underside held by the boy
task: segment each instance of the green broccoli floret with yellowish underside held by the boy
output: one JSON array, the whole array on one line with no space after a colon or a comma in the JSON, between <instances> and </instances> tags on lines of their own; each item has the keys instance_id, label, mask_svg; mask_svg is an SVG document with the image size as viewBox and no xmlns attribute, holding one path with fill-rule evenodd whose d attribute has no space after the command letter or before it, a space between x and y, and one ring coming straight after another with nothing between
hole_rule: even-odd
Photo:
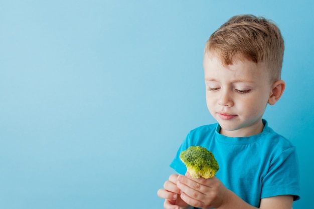
<instances>
[{"instance_id":1,"label":"green broccoli floret with yellowish underside held by the boy","mask_svg":"<svg viewBox=\"0 0 314 209\"><path fill-rule=\"evenodd\" d=\"M181 152L180 159L187 166L193 178L211 178L215 176L219 169L214 154L205 147L190 146L187 150Z\"/></svg>"}]
</instances>

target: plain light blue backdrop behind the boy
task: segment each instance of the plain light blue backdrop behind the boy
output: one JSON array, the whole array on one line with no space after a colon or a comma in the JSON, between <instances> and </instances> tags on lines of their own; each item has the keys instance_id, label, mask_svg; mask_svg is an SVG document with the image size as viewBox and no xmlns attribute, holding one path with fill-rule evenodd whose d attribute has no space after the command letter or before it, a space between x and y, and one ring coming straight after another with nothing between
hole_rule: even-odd
<instances>
[{"instance_id":1,"label":"plain light blue backdrop behind the boy","mask_svg":"<svg viewBox=\"0 0 314 209\"><path fill-rule=\"evenodd\" d=\"M314 187L312 1L0 1L0 208L162 208L156 191L205 103L205 42L231 16L274 20L283 97L264 118Z\"/></svg>"}]
</instances>

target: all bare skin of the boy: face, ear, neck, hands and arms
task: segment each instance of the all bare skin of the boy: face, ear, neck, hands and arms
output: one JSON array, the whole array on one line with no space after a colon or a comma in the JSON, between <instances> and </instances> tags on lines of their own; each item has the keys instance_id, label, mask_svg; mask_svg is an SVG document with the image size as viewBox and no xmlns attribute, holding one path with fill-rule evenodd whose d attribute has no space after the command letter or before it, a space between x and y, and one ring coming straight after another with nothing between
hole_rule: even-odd
<instances>
[{"instance_id":1,"label":"all bare skin of the boy: face, ear, neck, hands and arms","mask_svg":"<svg viewBox=\"0 0 314 209\"><path fill-rule=\"evenodd\" d=\"M271 82L263 63L237 59L224 66L214 52L204 55L206 102L212 116L221 126L221 134L230 137L251 136L262 132L262 116L267 104L274 105L281 97L284 81ZM172 174L158 190L165 199L165 209L257 208L227 189L217 178L192 178ZM291 209L292 195L262 198L261 209ZM192 205L192 206L190 206Z\"/></svg>"}]
</instances>

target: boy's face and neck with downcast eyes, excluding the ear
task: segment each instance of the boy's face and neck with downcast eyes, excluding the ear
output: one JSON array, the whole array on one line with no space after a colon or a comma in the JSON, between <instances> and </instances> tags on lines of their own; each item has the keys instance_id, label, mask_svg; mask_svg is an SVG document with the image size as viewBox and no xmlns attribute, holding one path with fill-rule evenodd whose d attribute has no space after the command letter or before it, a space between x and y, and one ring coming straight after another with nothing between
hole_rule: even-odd
<instances>
[{"instance_id":1,"label":"boy's face and neck with downcast eyes, excluding the ear","mask_svg":"<svg viewBox=\"0 0 314 209\"><path fill-rule=\"evenodd\" d=\"M263 65L236 60L223 66L214 53L205 53L206 102L221 126L221 134L251 136L262 131L262 116L272 88Z\"/></svg>"}]
</instances>

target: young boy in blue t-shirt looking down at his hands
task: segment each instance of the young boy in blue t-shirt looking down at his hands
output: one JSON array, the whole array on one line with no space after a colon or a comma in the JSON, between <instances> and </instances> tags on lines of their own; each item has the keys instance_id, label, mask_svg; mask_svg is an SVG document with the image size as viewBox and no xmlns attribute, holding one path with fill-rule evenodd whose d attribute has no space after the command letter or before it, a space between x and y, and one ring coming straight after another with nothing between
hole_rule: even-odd
<instances>
[{"instance_id":1,"label":"young boy in blue t-shirt looking down at his hands","mask_svg":"<svg viewBox=\"0 0 314 209\"><path fill-rule=\"evenodd\" d=\"M295 147L262 119L281 97L284 44L279 29L252 15L235 16L208 40L204 53L206 101L218 124L192 130L158 191L166 209L291 209L299 199ZM220 169L192 178L180 160L190 146L212 151Z\"/></svg>"}]
</instances>

